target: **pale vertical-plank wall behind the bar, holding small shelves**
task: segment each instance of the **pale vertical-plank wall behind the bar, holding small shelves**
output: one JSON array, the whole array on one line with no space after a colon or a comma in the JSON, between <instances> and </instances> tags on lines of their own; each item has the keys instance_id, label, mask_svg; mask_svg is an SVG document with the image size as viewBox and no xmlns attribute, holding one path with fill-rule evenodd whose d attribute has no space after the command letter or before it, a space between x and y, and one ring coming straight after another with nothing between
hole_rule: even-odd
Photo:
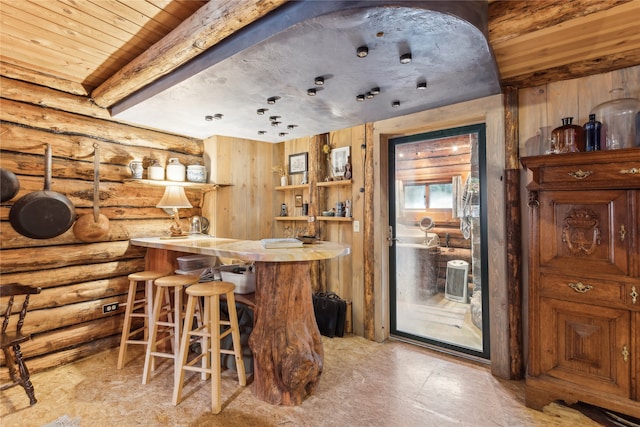
<instances>
[{"instance_id":1,"label":"pale vertical-plank wall behind the bar, holding small shelves","mask_svg":"<svg viewBox=\"0 0 640 427\"><path fill-rule=\"evenodd\" d=\"M354 221L363 221L364 126L286 141L279 144L212 137L205 141L205 157L210 159L213 180L223 185L205 196L203 215L213 224L210 234L236 239L315 235L322 240L350 245L351 255L321 261L313 267L316 290L332 291L352 302L353 331L363 334L363 241L353 232L352 222L276 221L280 205L286 203L290 216L301 215L295 209L295 196L309 203L309 215L318 216L350 199ZM351 147L352 185L316 187L326 177L326 155L322 145L329 140L332 148ZM276 191L280 177L273 166L289 169L289 155L308 153L310 187L294 191ZM302 182L302 175L289 176L289 184ZM311 192L310 192L311 191Z\"/></svg>"}]
</instances>

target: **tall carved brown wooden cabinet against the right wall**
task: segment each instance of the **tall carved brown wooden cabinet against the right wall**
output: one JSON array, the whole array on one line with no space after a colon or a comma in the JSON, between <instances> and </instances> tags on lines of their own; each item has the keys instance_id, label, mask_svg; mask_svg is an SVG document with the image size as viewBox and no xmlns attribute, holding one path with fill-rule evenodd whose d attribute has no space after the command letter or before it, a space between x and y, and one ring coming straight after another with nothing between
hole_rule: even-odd
<instances>
[{"instance_id":1,"label":"tall carved brown wooden cabinet against the right wall","mask_svg":"<svg viewBox=\"0 0 640 427\"><path fill-rule=\"evenodd\" d=\"M527 406L640 417L640 149L526 157Z\"/></svg>"}]
</instances>

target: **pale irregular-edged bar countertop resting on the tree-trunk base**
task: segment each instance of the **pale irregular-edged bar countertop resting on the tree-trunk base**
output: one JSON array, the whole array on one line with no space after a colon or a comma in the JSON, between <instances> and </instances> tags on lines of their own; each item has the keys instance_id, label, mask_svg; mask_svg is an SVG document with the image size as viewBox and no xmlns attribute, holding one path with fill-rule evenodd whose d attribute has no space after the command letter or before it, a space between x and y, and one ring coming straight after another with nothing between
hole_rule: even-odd
<instances>
[{"instance_id":1,"label":"pale irregular-edged bar countertop resting on the tree-trunk base","mask_svg":"<svg viewBox=\"0 0 640 427\"><path fill-rule=\"evenodd\" d=\"M258 262L316 261L348 255L351 252L349 246L333 242L318 241L305 244L301 248L265 249L260 240L235 240L207 235L184 238L143 237L131 239L131 244Z\"/></svg>"}]
</instances>

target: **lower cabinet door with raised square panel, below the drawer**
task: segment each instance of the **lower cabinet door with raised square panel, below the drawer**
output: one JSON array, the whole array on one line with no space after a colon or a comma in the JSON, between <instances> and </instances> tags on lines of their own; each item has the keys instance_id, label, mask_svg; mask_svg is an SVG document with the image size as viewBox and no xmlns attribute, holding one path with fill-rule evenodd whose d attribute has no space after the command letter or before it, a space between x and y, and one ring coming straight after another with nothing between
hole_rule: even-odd
<instances>
[{"instance_id":1,"label":"lower cabinet door with raised square panel, below the drawer","mask_svg":"<svg viewBox=\"0 0 640 427\"><path fill-rule=\"evenodd\" d=\"M629 398L630 316L624 309L542 298L541 374Z\"/></svg>"}]
</instances>

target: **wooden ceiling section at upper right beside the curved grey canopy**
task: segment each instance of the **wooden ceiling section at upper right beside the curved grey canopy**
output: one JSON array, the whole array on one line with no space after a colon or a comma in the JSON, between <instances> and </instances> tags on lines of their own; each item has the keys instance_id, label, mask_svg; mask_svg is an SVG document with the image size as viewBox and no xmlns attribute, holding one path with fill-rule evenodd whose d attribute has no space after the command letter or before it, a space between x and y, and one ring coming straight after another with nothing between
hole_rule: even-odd
<instances>
[{"instance_id":1,"label":"wooden ceiling section at upper right beside the curved grey canopy","mask_svg":"<svg viewBox=\"0 0 640 427\"><path fill-rule=\"evenodd\" d=\"M491 2L489 43L502 86L531 87L640 64L638 13L640 2L629 0Z\"/></svg>"}]
</instances>

